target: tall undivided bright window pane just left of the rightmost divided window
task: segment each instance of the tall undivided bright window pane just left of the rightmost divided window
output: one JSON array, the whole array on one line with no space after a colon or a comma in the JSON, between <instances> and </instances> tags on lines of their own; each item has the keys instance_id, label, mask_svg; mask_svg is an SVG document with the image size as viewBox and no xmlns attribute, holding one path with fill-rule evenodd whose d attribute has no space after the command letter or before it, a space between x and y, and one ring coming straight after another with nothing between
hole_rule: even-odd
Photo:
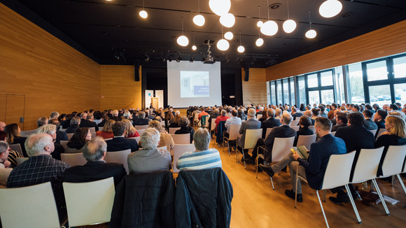
<instances>
[{"instance_id":1,"label":"tall undivided bright window pane just left of the rightmost divided window","mask_svg":"<svg viewBox=\"0 0 406 228\"><path fill-rule=\"evenodd\" d=\"M363 83L363 70L362 70L361 64L358 63L358 64L349 65L348 71L349 71L349 85L350 85L350 89L351 89L350 103L362 103L362 102L356 102L356 101L361 101L361 100L365 99L364 83Z\"/></svg>"}]
</instances>

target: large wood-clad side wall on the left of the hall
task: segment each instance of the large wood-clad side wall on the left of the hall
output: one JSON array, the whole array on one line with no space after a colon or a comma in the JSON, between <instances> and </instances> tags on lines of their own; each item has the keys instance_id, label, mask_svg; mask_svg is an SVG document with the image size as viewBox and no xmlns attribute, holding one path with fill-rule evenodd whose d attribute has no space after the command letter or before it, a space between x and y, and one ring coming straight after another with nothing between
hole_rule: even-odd
<instances>
[{"instance_id":1,"label":"large wood-clad side wall on the left of the hall","mask_svg":"<svg viewBox=\"0 0 406 228\"><path fill-rule=\"evenodd\" d=\"M25 130L52 111L99 109L99 78L99 64L0 3L1 97L25 95Z\"/></svg>"}]
</instances>

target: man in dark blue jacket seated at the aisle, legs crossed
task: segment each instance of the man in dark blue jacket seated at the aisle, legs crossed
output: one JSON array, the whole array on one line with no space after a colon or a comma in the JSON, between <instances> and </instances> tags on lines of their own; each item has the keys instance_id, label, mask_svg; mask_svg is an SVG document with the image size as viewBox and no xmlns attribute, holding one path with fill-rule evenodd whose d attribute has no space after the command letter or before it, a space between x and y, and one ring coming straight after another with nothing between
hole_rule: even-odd
<instances>
[{"instance_id":1,"label":"man in dark blue jacket seated at the aisle, legs crossed","mask_svg":"<svg viewBox=\"0 0 406 228\"><path fill-rule=\"evenodd\" d=\"M288 155L272 167L260 164L261 169L271 177L274 176L274 173L289 166L293 190L286 190L285 194L291 199L295 199L294 190L296 187L297 166L299 166L299 175L306 178L310 187L314 190L320 190L323 185L325 169L327 168L330 155L346 153L344 141L341 138L334 137L330 134L331 122L328 118L318 117L314 127L316 129L316 134L320 139L316 143L311 144L308 160L302 159L300 155L295 153ZM297 201L303 201L300 181L297 182Z\"/></svg>"}]
</instances>

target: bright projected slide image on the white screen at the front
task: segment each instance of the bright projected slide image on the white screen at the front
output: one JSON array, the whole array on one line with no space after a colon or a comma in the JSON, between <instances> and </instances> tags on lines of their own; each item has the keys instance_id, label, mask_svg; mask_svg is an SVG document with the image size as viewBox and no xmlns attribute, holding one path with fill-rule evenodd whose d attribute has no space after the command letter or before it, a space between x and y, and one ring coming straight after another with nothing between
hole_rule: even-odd
<instances>
[{"instance_id":1,"label":"bright projected slide image on the white screen at the front","mask_svg":"<svg viewBox=\"0 0 406 228\"><path fill-rule=\"evenodd\" d=\"M210 97L209 71L181 71L181 97Z\"/></svg>"}]
</instances>

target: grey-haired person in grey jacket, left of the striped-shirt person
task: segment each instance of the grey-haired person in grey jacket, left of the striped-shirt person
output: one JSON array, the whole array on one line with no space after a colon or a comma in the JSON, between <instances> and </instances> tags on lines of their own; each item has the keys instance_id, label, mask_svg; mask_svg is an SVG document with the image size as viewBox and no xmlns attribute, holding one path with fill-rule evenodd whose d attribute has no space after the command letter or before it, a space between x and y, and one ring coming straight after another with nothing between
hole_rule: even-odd
<instances>
[{"instance_id":1,"label":"grey-haired person in grey jacket, left of the striped-shirt person","mask_svg":"<svg viewBox=\"0 0 406 228\"><path fill-rule=\"evenodd\" d=\"M160 132L157 129L150 127L144 131L140 138L142 150L128 155L128 169L130 173L151 173L170 169L171 154L168 150L158 150L159 142Z\"/></svg>"}]
</instances>

